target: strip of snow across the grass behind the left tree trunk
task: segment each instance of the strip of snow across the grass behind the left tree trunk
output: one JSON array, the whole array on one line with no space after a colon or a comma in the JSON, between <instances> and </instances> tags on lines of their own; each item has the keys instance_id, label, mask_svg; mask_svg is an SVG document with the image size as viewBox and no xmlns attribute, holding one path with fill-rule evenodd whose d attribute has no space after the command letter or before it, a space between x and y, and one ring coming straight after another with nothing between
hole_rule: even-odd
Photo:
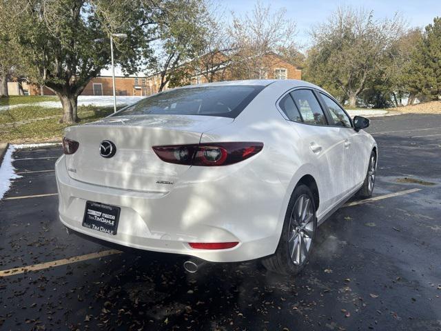
<instances>
[{"instance_id":1,"label":"strip of snow across the grass behind the left tree trunk","mask_svg":"<svg viewBox=\"0 0 441 331\"><path fill-rule=\"evenodd\" d=\"M116 97L116 106L131 105L136 101L143 99L143 97L129 97L129 96L118 96ZM0 106L1 110L10 110L17 107L26 106L39 106L44 108L61 108L60 101L42 101L36 103L22 103L19 105L11 106ZM78 97L78 106L97 106L97 107L112 107L113 106L113 96L112 95L80 95Z\"/></svg>"}]
</instances>

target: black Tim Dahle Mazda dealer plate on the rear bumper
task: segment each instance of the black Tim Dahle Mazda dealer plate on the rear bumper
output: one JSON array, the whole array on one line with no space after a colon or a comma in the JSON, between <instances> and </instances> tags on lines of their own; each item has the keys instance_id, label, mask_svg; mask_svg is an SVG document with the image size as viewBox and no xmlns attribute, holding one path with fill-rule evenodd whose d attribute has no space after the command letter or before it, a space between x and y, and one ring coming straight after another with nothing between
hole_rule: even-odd
<instances>
[{"instance_id":1,"label":"black Tim Dahle Mazda dealer plate on the rear bumper","mask_svg":"<svg viewBox=\"0 0 441 331\"><path fill-rule=\"evenodd\" d=\"M107 234L116 234L121 208L99 202L86 201L83 226Z\"/></svg>"}]
</instances>

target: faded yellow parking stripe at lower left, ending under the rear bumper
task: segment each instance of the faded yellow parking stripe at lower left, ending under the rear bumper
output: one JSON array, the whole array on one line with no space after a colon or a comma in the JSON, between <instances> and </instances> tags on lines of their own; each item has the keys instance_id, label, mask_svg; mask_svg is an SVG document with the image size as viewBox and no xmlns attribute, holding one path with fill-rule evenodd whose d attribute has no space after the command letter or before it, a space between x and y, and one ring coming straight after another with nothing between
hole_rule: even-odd
<instances>
[{"instance_id":1,"label":"faded yellow parking stripe at lower left, ending under the rear bumper","mask_svg":"<svg viewBox=\"0 0 441 331\"><path fill-rule=\"evenodd\" d=\"M43 270L43 269L58 267L60 265L72 264L72 263L87 261L92 259L99 259L100 257L108 257L109 255L114 255L119 253L121 253L120 250L103 250L102 252L79 255L78 257L70 257L69 259L61 259L57 261L49 261L39 264L27 265L20 268L1 270L0 278L12 276L14 274L23 274L23 272Z\"/></svg>"}]
</instances>

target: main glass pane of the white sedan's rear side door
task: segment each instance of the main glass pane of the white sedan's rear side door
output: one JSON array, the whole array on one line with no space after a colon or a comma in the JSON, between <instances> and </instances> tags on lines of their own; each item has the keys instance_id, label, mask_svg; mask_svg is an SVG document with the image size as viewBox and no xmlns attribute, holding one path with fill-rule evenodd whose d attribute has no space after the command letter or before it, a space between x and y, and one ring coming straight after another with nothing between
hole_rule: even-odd
<instances>
[{"instance_id":1,"label":"main glass pane of the white sedan's rear side door","mask_svg":"<svg viewBox=\"0 0 441 331\"><path fill-rule=\"evenodd\" d=\"M304 123L317 124L320 126L327 125L325 114L320 107L320 103L318 103L316 96L311 90L295 90L290 94L302 115Z\"/></svg>"}]
</instances>

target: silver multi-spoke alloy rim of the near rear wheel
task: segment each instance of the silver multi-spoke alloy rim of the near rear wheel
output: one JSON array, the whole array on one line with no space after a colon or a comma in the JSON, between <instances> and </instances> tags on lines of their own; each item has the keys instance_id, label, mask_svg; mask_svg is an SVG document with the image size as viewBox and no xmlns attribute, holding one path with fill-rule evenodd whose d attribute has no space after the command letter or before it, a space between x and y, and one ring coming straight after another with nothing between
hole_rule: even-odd
<instances>
[{"instance_id":1,"label":"silver multi-spoke alloy rim of the near rear wheel","mask_svg":"<svg viewBox=\"0 0 441 331\"><path fill-rule=\"evenodd\" d=\"M302 194L294 203L289 219L289 257L295 265L301 265L308 257L314 238L314 209L307 194Z\"/></svg>"}]
</instances>

